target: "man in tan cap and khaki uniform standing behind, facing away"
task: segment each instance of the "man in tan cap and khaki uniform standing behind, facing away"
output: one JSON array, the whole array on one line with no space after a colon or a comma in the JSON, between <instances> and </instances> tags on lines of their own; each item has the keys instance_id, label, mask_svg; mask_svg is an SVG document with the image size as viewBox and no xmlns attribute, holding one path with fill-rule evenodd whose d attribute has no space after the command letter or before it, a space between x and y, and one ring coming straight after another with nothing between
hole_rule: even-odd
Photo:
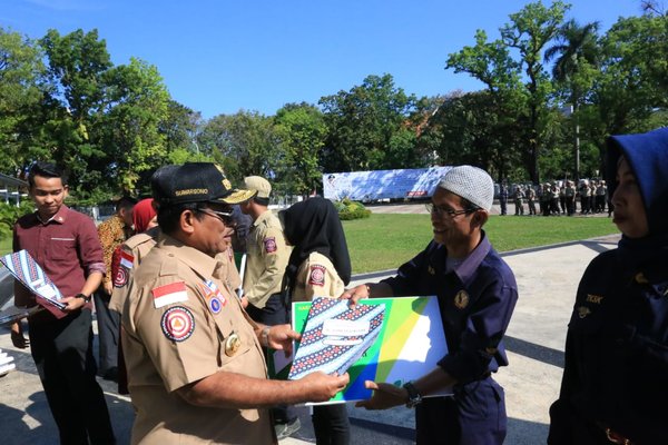
<instances>
[{"instance_id":1,"label":"man in tan cap and khaki uniform standing behind, facing away","mask_svg":"<svg viewBox=\"0 0 668 445\"><path fill-rule=\"evenodd\" d=\"M246 273L244 274L243 304L255 322L273 326L289 323L286 296L281 285L292 249L278 217L269 210L272 185L259 176L244 178L244 187L256 195L239 205L244 215L253 218L246 238ZM292 406L273 409L278 439L285 438L301 427L297 412Z\"/></svg>"}]
</instances>

